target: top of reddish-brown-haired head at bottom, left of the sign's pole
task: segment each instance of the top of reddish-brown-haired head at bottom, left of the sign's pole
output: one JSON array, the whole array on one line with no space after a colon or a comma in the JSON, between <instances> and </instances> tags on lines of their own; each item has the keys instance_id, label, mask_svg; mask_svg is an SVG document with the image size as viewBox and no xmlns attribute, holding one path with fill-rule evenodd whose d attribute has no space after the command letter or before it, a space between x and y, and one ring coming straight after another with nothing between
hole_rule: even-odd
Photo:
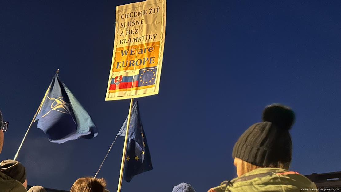
<instances>
[{"instance_id":1,"label":"top of reddish-brown-haired head at bottom, left of the sign's pole","mask_svg":"<svg viewBox=\"0 0 341 192\"><path fill-rule=\"evenodd\" d=\"M103 178L83 177L73 183L70 192L103 192L105 187Z\"/></svg>"}]
</instances>

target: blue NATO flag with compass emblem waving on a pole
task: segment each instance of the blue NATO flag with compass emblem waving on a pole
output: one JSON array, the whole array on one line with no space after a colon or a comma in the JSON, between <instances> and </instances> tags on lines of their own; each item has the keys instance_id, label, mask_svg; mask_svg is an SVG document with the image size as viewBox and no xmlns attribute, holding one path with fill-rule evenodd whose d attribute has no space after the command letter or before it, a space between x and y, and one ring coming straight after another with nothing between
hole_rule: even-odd
<instances>
[{"instance_id":1,"label":"blue NATO flag with compass emblem waving on a pole","mask_svg":"<svg viewBox=\"0 0 341 192\"><path fill-rule=\"evenodd\" d=\"M56 74L35 118L38 128L54 143L78 138L93 138L98 129L90 115Z\"/></svg>"}]
</instances>

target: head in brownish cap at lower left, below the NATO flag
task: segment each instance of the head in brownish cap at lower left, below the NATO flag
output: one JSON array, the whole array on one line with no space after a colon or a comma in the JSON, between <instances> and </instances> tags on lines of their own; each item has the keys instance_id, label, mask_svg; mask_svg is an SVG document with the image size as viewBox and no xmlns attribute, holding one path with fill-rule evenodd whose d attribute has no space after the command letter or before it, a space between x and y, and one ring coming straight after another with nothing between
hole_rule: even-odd
<instances>
[{"instance_id":1,"label":"head in brownish cap at lower left, below the NATO flag","mask_svg":"<svg viewBox=\"0 0 341 192\"><path fill-rule=\"evenodd\" d=\"M26 169L18 161L4 160L0 163L0 170L3 174L19 181L24 187L27 187Z\"/></svg>"}]
</instances>

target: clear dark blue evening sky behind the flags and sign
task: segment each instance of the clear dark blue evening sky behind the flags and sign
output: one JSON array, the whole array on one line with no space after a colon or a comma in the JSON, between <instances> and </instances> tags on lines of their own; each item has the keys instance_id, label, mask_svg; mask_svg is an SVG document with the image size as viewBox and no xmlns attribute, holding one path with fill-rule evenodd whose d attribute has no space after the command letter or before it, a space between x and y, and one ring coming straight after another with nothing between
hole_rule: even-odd
<instances>
[{"instance_id":1,"label":"clear dark blue evening sky behind the flags and sign","mask_svg":"<svg viewBox=\"0 0 341 192\"><path fill-rule=\"evenodd\" d=\"M50 143L33 124L18 160L28 183L69 190L94 175L128 114L104 101L115 6L132 0L1 1L0 109L10 122L1 159L13 159L60 69L99 128L94 139ZM341 1L167 1L159 95L139 98L154 169L122 191L206 191L236 176L232 148L267 104L291 106L291 169L341 170ZM123 138L99 174L116 191Z\"/></svg>"}]
</instances>

